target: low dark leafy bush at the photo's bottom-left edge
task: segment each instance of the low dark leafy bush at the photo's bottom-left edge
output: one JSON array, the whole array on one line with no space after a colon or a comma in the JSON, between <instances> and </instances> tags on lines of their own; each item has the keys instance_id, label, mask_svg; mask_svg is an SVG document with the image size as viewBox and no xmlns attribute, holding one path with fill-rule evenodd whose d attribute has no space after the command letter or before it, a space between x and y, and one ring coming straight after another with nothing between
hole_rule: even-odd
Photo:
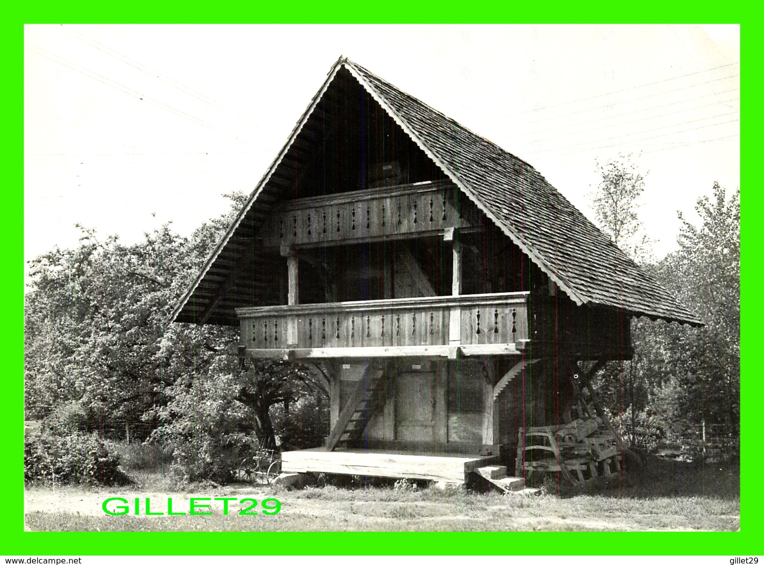
<instances>
[{"instance_id":1,"label":"low dark leafy bush at the photo's bottom-left edge","mask_svg":"<svg viewBox=\"0 0 764 565\"><path fill-rule=\"evenodd\" d=\"M95 434L29 434L24 437L26 483L102 484L118 482L119 456Z\"/></svg>"}]
</instances>

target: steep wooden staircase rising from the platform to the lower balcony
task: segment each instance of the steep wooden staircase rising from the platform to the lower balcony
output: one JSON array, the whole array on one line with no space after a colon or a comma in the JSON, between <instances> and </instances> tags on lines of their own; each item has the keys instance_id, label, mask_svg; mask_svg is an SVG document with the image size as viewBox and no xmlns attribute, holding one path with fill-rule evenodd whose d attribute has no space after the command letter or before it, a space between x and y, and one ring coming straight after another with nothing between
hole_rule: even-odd
<instances>
[{"instance_id":1,"label":"steep wooden staircase rising from the platform to the lower balcony","mask_svg":"<svg viewBox=\"0 0 764 565\"><path fill-rule=\"evenodd\" d=\"M348 402L345 402L345 408L342 408L335 427L326 439L327 451L350 447L361 439L371 416L380 407L380 403L384 402L380 390L384 388L382 384L385 373L383 365L369 363L366 367L363 378L358 381Z\"/></svg>"}]
</instances>

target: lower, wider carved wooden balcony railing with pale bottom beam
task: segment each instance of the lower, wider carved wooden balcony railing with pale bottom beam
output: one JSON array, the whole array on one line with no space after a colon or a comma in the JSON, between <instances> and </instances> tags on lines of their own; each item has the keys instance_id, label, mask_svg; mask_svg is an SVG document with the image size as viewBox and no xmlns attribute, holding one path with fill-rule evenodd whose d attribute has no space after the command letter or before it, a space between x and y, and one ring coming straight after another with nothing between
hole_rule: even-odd
<instances>
[{"instance_id":1,"label":"lower, wider carved wooden balcony railing with pale bottom beam","mask_svg":"<svg viewBox=\"0 0 764 565\"><path fill-rule=\"evenodd\" d=\"M238 308L253 357L394 357L517 353L528 293Z\"/></svg>"}]
</instances>

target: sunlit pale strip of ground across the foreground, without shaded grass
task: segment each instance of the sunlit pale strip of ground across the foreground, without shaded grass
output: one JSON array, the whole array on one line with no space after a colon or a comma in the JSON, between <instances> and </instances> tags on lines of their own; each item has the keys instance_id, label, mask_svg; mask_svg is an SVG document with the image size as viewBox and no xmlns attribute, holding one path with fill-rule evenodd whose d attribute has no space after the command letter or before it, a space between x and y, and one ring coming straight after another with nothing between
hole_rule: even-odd
<instances>
[{"instance_id":1,"label":"sunlit pale strip of ground across the foreground, without shaded grass","mask_svg":"<svg viewBox=\"0 0 764 565\"><path fill-rule=\"evenodd\" d=\"M129 501L128 515L106 515L105 499ZM210 504L212 515L145 515L189 512L190 499L230 497L228 514L222 501ZM140 514L134 515L134 499ZM238 515L238 500L280 500L278 515ZM122 502L111 502L109 509ZM255 510L262 510L257 508ZM25 493L28 530L34 531L734 531L740 528L740 503L694 497L633 499L617 493L560 498L501 496L498 493L440 493L435 489L396 492L392 489L309 487L287 491L234 485L195 492L141 491L124 487L48 489L28 487Z\"/></svg>"}]
</instances>

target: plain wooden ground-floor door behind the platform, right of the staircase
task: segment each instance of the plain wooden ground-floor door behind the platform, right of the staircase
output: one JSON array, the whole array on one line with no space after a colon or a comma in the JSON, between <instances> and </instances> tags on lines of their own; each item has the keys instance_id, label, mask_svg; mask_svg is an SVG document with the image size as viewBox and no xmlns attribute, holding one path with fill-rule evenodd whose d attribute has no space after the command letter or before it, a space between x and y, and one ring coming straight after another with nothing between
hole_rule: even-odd
<instances>
[{"instance_id":1,"label":"plain wooden ground-floor door behind the platform, right of the staircase","mask_svg":"<svg viewBox=\"0 0 764 565\"><path fill-rule=\"evenodd\" d=\"M435 373L400 373L396 394L396 440L435 441Z\"/></svg>"}]
</instances>

